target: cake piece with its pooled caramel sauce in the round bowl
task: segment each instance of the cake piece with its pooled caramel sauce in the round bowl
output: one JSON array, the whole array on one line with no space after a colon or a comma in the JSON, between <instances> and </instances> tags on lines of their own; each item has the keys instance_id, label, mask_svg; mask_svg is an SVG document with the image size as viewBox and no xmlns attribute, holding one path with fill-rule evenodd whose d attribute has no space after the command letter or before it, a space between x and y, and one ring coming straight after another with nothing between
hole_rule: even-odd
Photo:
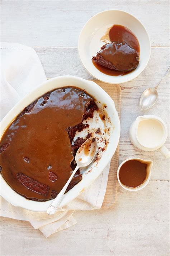
<instances>
[{"instance_id":1,"label":"cake piece with its pooled caramel sauce in the round bowl","mask_svg":"<svg viewBox=\"0 0 170 256\"><path fill-rule=\"evenodd\" d=\"M105 44L92 57L92 62L99 71L107 75L121 76L137 68L140 45L131 30L121 25L113 25L100 40Z\"/></svg>"}]
</instances>

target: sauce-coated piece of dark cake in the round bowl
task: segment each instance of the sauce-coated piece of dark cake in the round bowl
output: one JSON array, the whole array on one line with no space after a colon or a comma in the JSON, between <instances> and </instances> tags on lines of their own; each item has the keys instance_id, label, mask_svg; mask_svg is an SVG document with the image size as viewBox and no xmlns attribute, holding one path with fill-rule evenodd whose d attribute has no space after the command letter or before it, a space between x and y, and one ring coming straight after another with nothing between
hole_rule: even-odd
<instances>
[{"instance_id":1,"label":"sauce-coated piece of dark cake in the round bowl","mask_svg":"<svg viewBox=\"0 0 170 256\"><path fill-rule=\"evenodd\" d=\"M139 64L136 50L125 42L105 44L92 60L101 66L117 71L131 71Z\"/></svg>"}]
</instances>

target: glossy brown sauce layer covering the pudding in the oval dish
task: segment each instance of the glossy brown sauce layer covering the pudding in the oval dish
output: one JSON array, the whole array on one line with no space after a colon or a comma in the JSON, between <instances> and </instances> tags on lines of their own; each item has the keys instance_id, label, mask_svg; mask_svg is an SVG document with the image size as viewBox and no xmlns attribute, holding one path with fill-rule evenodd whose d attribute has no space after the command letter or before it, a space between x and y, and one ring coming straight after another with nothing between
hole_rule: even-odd
<instances>
[{"instance_id":1,"label":"glossy brown sauce layer covering the pudding in the oval dish","mask_svg":"<svg viewBox=\"0 0 170 256\"><path fill-rule=\"evenodd\" d=\"M69 179L74 159L67 127L79 124L92 98L76 88L57 89L39 98L31 112L19 115L5 131L0 146L1 174L19 194L49 200ZM23 185L24 184L24 185Z\"/></svg>"}]
</instances>

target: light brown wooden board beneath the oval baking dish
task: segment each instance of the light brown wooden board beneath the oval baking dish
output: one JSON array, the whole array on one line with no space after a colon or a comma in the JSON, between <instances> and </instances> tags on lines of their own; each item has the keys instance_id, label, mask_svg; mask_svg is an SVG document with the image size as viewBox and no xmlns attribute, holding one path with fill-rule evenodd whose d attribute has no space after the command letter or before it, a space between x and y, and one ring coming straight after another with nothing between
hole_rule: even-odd
<instances>
[{"instance_id":1,"label":"light brown wooden board beneath the oval baking dish","mask_svg":"<svg viewBox=\"0 0 170 256\"><path fill-rule=\"evenodd\" d=\"M114 100L115 108L118 111L119 118L121 116L121 87L118 84L106 84L98 80L94 80L109 96ZM119 144L112 157L108 176L108 184L101 208L109 208L113 206L117 199L117 169L119 165Z\"/></svg>"}]
</instances>

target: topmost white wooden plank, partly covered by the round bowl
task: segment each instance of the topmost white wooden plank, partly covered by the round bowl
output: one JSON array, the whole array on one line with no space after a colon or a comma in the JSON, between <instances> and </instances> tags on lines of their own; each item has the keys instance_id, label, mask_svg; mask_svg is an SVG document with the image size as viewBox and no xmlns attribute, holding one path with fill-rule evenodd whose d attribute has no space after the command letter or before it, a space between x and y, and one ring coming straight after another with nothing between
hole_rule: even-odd
<instances>
[{"instance_id":1,"label":"topmost white wooden plank, partly covered by the round bowl","mask_svg":"<svg viewBox=\"0 0 170 256\"><path fill-rule=\"evenodd\" d=\"M148 30L152 46L169 46L168 0L2 0L1 41L32 47L76 47L88 19L108 9L132 13Z\"/></svg>"}]
</instances>

